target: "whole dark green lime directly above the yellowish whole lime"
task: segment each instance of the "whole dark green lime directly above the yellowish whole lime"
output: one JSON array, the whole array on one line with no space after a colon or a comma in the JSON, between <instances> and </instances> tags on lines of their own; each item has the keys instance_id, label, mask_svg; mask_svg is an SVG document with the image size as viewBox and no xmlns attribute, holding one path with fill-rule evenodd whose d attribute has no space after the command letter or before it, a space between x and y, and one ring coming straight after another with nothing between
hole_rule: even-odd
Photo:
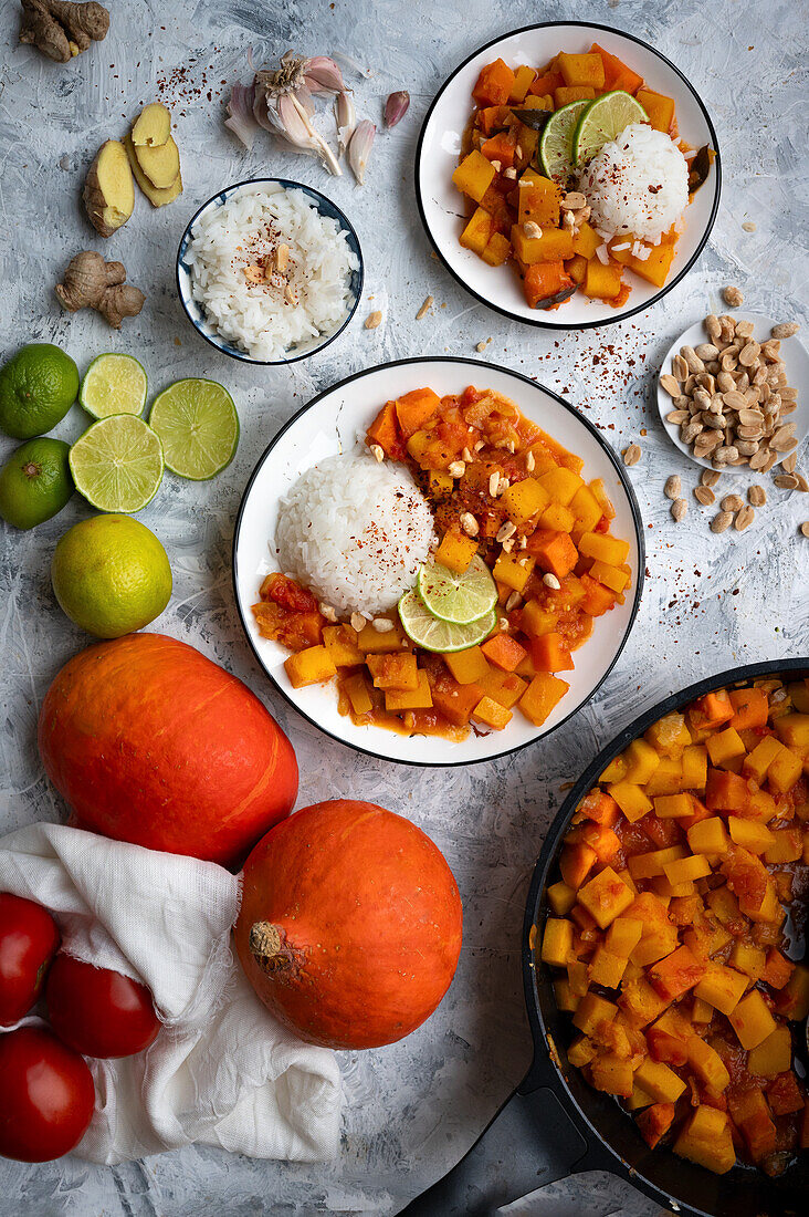
<instances>
[{"instance_id":1,"label":"whole dark green lime directly above the yellowish whole lime","mask_svg":"<svg viewBox=\"0 0 809 1217\"><path fill-rule=\"evenodd\" d=\"M75 487L63 439L29 439L0 469L0 516L15 528L34 528L61 511Z\"/></svg>"}]
</instances>

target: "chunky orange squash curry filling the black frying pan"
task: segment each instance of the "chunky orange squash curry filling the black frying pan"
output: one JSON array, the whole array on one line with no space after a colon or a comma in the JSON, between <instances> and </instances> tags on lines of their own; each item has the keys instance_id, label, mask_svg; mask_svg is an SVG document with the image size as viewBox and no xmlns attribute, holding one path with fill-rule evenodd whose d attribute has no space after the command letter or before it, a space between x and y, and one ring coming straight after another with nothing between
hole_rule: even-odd
<instances>
[{"instance_id":1,"label":"chunky orange squash curry filling the black frying pan","mask_svg":"<svg viewBox=\"0 0 809 1217\"><path fill-rule=\"evenodd\" d=\"M809 1149L808 774L809 682L707 694L609 763L547 888L569 1064L718 1174Z\"/></svg>"}]
</instances>

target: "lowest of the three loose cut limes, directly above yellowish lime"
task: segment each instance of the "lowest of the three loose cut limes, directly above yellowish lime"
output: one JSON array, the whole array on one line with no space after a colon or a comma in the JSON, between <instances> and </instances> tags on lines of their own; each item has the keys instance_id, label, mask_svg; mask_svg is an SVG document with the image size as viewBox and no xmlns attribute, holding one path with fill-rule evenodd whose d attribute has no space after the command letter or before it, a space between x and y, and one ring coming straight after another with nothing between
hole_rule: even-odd
<instances>
[{"instance_id":1,"label":"lowest of the three loose cut limes, directly above yellowish lime","mask_svg":"<svg viewBox=\"0 0 809 1217\"><path fill-rule=\"evenodd\" d=\"M163 479L161 441L131 414L94 422L71 448L69 460L77 490L99 511L140 511Z\"/></svg>"}]
</instances>

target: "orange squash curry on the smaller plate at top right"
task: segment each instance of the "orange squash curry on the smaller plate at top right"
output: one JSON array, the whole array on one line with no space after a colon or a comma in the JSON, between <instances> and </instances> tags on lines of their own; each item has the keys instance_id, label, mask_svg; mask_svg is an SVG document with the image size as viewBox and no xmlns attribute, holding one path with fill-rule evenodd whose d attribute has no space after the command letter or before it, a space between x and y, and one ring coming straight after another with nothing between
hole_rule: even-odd
<instances>
[{"instance_id":1,"label":"orange squash curry on the smaller plate at top right","mask_svg":"<svg viewBox=\"0 0 809 1217\"><path fill-rule=\"evenodd\" d=\"M676 226L658 245L634 237L605 239L589 224L589 212L564 211L563 181L546 178L539 161L541 119L574 101L605 92L631 94L650 124L676 140L674 100L647 88L642 77L596 43L586 55L560 52L541 68L487 65L472 97L476 108L453 181L467 202L460 243L490 267L511 262L532 308L556 309L577 291L614 308L627 303L629 269L663 287L674 259ZM519 117L522 116L522 117ZM680 142L684 153L691 151ZM642 248L640 248L642 246ZM597 251L597 252L596 252Z\"/></svg>"}]
</instances>

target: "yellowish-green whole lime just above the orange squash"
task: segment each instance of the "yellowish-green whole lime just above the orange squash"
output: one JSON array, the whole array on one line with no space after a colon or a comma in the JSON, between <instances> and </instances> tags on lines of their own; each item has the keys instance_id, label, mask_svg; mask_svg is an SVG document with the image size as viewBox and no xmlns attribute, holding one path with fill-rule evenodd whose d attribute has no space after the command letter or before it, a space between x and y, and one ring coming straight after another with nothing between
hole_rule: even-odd
<instances>
[{"instance_id":1,"label":"yellowish-green whole lime just above the orange squash","mask_svg":"<svg viewBox=\"0 0 809 1217\"><path fill-rule=\"evenodd\" d=\"M57 544L51 582L72 622L97 638L120 638L163 612L172 567L146 525L131 516L94 516Z\"/></svg>"}]
</instances>

